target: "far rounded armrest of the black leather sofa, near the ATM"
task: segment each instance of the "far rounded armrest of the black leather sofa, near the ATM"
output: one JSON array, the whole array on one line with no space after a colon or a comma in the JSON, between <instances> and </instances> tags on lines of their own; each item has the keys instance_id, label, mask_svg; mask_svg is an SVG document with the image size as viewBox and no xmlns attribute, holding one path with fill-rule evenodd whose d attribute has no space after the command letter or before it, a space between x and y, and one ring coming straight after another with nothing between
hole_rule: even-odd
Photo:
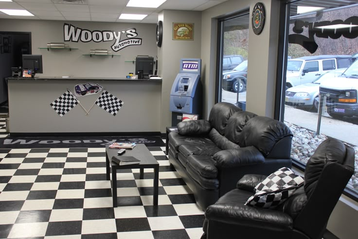
<instances>
[{"instance_id":1,"label":"far rounded armrest of the black leather sofa, near the ATM","mask_svg":"<svg viewBox=\"0 0 358 239\"><path fill-rule=\"evenodd\" d=\"M180 135L208 134L212 126L208 120L189 120L179 122L178 132Z\"/></svg>"}]
</instances>

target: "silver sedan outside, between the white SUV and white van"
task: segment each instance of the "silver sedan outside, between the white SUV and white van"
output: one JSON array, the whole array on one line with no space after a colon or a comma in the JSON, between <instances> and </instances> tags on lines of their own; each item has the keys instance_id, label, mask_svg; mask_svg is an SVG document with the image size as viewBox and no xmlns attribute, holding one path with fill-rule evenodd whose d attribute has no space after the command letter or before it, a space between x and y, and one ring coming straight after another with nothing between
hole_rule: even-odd
<instances>
[{"instance_id":1,"label":"silver sedan outside, between the white SUV and white van","mask_svg":"<svg viewBox=\"0 0 358 239\"><path fill-rule=\"evenodd\" d=\"M346 68L326 72L318 76L312 83L288 88L286 90L285 104L304 107L306 110L318 110L320 84L327 79L340 76L345 70Z\"/></svg>"}]
</instances>

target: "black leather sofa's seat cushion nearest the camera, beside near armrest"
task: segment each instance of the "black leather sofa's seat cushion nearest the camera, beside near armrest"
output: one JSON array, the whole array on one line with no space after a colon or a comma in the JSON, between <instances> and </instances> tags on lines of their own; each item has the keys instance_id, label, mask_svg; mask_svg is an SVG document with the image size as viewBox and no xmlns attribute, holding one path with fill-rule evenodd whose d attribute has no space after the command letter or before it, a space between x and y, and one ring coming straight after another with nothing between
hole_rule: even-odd
<instances>
[{"instance_id":1,"label":"black leather sofa's seat cushion nearest the camera, beside near armrest","mask_svg":"<svg viewBox=\"0 0 358 239\"><path fill-rule=\"evenodd\" d=\"M217 167L215 160L211 156L189 155L187 163L190 164L197 172L209 179L217 178Z\"/></svg>"}]
</instances>

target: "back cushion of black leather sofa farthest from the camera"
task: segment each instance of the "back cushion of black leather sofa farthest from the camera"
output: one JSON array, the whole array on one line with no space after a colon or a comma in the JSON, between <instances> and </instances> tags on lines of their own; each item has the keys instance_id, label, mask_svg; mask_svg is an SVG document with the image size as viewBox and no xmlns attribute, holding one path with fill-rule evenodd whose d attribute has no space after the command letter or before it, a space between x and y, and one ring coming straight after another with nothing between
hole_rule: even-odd
<instances>
[{"instance_id":1,"label":"back cushion of black leather sofa farthest from the camera","mask_svg":"<svg viewBox=\"0 0 358 239\"><path fill-rule=\"evenodd\" d=\"M214 105L210 110L209 121L211 125L221 134L224 135L228 120L233 113L241 111L240 108L227 102L220 102Z\"/></svg>"}]
</instances>

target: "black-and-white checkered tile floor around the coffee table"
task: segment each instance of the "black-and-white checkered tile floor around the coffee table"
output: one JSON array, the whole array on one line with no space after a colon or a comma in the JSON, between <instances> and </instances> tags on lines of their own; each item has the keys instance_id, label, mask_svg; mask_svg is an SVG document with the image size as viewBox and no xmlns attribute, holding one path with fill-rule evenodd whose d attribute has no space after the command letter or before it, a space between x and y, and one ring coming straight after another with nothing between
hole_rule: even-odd
<instances>
[{"instance_id":1,"label":"black-and-white checkered tile floor around the coffee table","mask_svg":"<svg viewBox=\"0 0 358 239\"><path fill-rule=\"evenodd\" d=\"M105 148L0 149L0 238L199 239L204 213L165 147L149 150L160 164L159 205L153 169L143 180L126 169L113 208Z\"/></svg>"}]
</instances>

